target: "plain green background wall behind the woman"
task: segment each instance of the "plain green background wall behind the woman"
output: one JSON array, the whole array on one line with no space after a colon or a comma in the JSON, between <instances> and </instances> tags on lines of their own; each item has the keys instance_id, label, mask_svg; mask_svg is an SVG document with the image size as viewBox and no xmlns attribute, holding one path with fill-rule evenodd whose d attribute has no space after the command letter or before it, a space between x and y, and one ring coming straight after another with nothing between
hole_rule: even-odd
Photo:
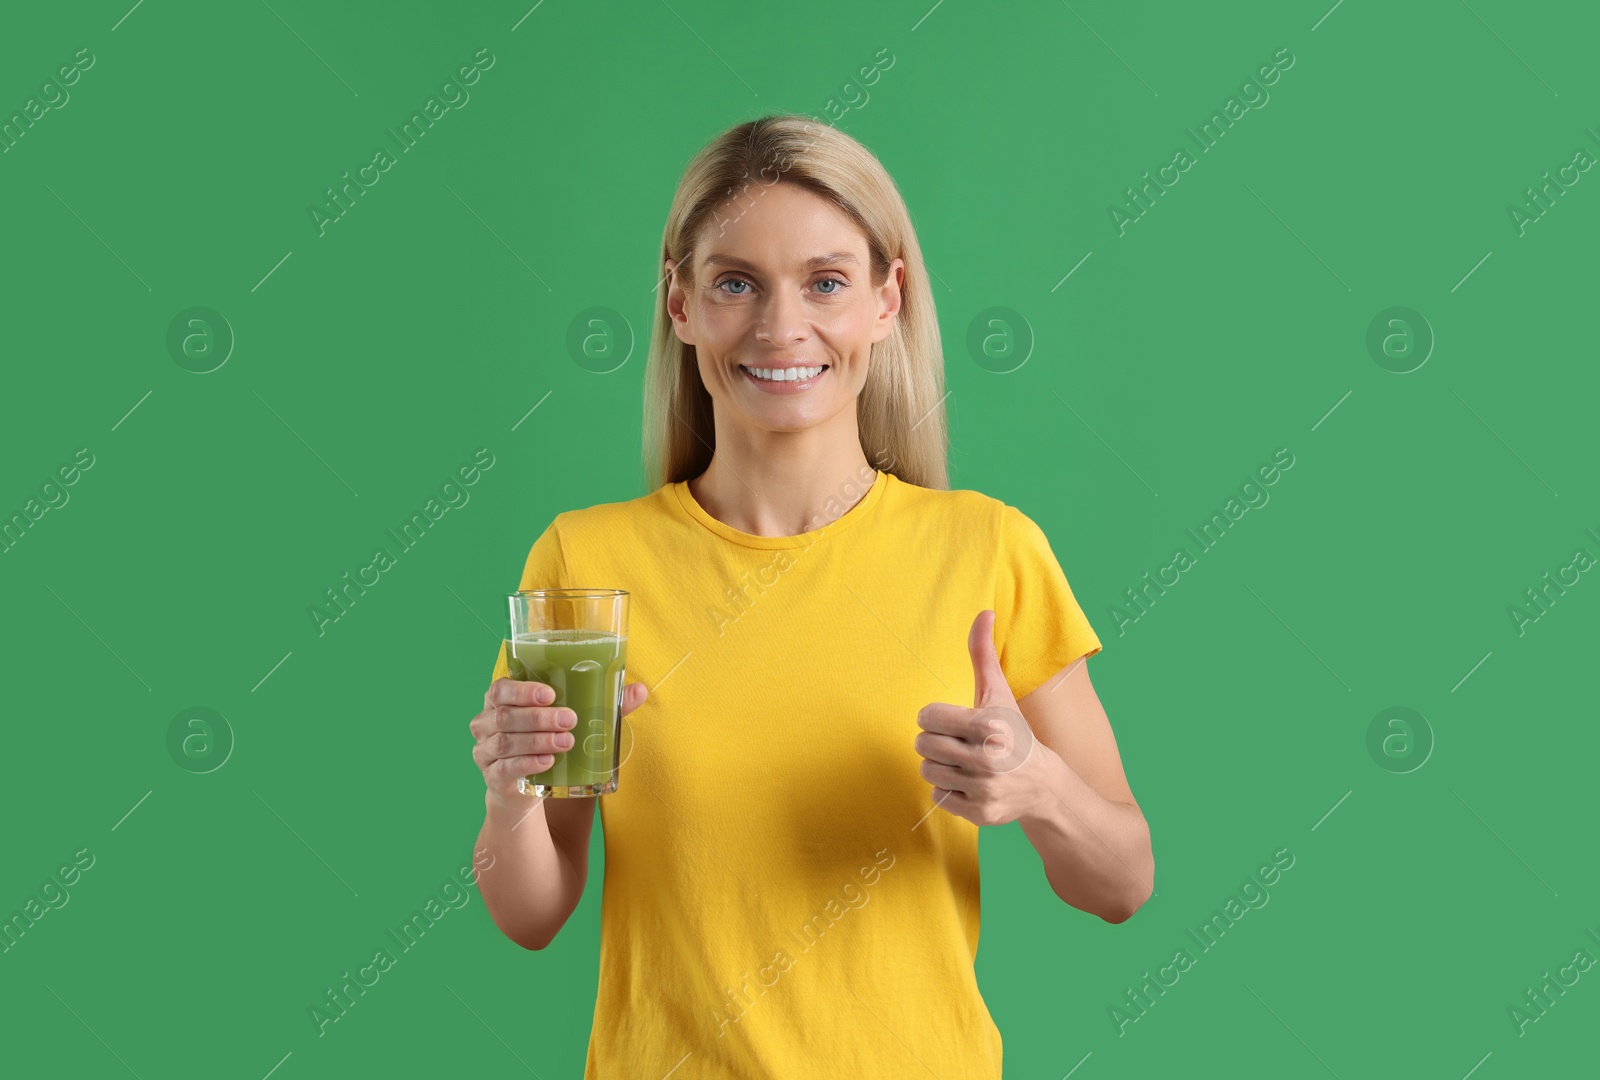
<instances>
[{"instance_id":1,"label":"plain green background wall behind the woman","mask_svg":"<svg viewBox=\"0 0 1600 1080\"><path fill-rule=\"evenodd\" d=\"M94 456L0 555L0 912L94 856L0 955L8 1064L581 1074L598 829L550 949L472 893L322 1037L307 1010L470 864L467 722L528 546L643 493L645 341L597 374L568 326L608 307L648 334L683 165L800 112L906 197L952 486L1050 536L1152 824L1158 894L1123 925L1058 901L1016 824L984 830L1006 1075L1590 1066L1600 971L1520 1035L1509 1011L1600 957L1600 584L1509 616L1600 555L1600 173L1526 235L1509 213L1600 154L1590 6L128 6L29 5L0 37L3 115L96 61L0 155L0 512ZM483 48L470 99L318 235L323 189ZM1187 130L1278 50L1270 99L1118 235L1123 189L1197 152ZM237 336L208 374L166 346L190 307ZM965 346L992 307L1034 338L1003 374ZM1366 346L1392 307L1437 336L1406 374ZM478 448L470 501L318 635L309 606ZM1123 590L1278 448L1270 502L1118 634ZM1426 757L1368 752L1397 706ZM170 754L190 707L226 717L226 760ZM1200 952L1186 931L1282 848L1270 902ZM1179 949L1194 966L1118 1034L1110 1008Z\"/></svg>"}]
</instances>

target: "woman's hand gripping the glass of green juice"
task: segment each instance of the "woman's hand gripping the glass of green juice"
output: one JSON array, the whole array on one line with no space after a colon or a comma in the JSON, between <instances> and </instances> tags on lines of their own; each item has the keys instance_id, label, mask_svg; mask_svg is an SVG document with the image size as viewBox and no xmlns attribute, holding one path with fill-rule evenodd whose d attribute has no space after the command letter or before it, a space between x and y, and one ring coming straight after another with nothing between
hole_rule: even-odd
<instances>
[{"instance_id":1,"label":"woman's hand gripping the glass of green juice","mask_svg":"<svg viewBox=\"0 0 1600 1080\"><path fill-rule=\"evenodd\" d=\"M645 683L622 688L622 715L645 704ZM496 678L483 694L483 712L469 725L477 746L472 760L483 771L490 795L512 805L526 805L528 795L517 789L518 779L542 773L555 763L555 754L573 747L576 715L563 706L552 706L555 690L547 683Z\"/></svg>"}]
</instances>

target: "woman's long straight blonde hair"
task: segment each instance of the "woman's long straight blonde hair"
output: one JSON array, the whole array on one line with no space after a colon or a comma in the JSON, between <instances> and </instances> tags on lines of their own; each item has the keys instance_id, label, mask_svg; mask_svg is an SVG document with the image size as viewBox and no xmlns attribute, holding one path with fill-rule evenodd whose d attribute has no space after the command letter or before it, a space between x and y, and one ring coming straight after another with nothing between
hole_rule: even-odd
<instances>
[{"instance_id":1,"label":"woman's long straight blonde hair","mask_svg":"<svg viewBox=\"0 0 1600 1080\"><path fill-rule=\"evenodd\" d=\"M690 162L667 213L661 258L694 280L694 242L726 227L766 187L786 182L843 210L866 234L872 285L904 259L894 330L872 346L856 424L869 464L923 488L949 488L944 416L944 350L933 290L906 203L877 157L848 134L798 115L770 115L728 128ZM730 205L731 203L731 205ZM656 288L645 366L643 461L651 490L691 480L717 443L712 398L699 378L694 346L678 341L667 315L667 280Z\"/></svg>"}]
</instances>

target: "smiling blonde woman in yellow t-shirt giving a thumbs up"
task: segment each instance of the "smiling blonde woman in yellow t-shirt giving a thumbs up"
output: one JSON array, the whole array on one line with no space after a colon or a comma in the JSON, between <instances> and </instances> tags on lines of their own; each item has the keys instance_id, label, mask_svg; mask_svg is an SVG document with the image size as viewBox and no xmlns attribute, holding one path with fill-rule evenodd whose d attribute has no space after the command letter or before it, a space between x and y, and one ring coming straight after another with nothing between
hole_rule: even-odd
<instances>
[{"instance_id":1,"label":"smiling blonde woman in yellow t-shirt giving a thumbs up","mask_svg":"<svg viewBox=\"0 0 1600 1080\"><path fill-rule=\"evenodd\" d=\"M629 590L650 707L614 794L530 802L517 778L571 734L501 656L472 720L483 899L547 946L600 802L586 1077L998 1077L978 826L1019 821L1107 922L1152 891L1083 666L1101 643L1038 526L947 490L933 294L872 154L741 123L690 163L662 254L654 490L558 514L520 586Z\"/></svg>"}]
</instances>

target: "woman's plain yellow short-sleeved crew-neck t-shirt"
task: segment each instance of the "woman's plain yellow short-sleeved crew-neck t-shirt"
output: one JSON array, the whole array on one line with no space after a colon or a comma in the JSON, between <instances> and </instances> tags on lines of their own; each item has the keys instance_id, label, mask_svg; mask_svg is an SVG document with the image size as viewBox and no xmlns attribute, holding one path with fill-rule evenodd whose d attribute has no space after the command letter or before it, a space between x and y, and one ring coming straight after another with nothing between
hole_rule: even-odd
<instances>
[{"instance_id":1,"label":"woman's plain yellow short-sleeved crew-neck t-shirt","mask_svg":"<svg viewBox=\"0 0 1600 1080\"><path fill-rule=\"evenodd\" d=\"M934 808L917 710L973 704L986 608L1018 698L1101 643L997 499L880 472L830 515L754 536L667 483L558 514L528 554L522 589L630 594L626 680L650 686L600 798L586 1080L1000 1077L978 826Z\"/></svg>"}]
</instances>

